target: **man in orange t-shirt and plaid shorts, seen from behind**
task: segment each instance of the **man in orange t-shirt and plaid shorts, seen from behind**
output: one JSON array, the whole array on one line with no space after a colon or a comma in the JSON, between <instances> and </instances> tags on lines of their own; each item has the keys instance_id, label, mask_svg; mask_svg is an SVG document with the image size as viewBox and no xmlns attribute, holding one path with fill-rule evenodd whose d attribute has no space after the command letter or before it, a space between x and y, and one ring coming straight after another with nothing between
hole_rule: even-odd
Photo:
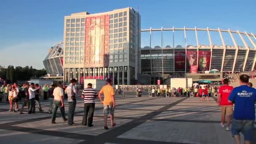
<instances>
[{"instance_id":1,"label":"man in orange t-shirt and plaid shorts, seen from behind","mask_svg":"<svg viewBox=\"0 0 256 144\"><path fill-rule=\"evenodd\" d=\"M115 111L115 90L112 87L111 79L106 80L107 85L105 85L99 92L99 99L104 105L104 129L108 130L107 126L107 115L110 114L111 126L115 126L114 123L114 111ZM104 101L102 101L101 95L104 94Z\"/></svg>"}]
</instances>

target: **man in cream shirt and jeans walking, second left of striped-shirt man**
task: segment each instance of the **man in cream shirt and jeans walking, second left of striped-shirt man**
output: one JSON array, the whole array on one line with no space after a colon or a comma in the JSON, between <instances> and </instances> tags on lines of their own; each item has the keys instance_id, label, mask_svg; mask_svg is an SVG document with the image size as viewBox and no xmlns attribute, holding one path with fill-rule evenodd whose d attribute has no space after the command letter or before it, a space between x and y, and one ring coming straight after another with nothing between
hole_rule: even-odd
<instances>
[{"instance_id":1,"label":"man in cream shirt and jeans walking, second left of striped-shirt man","mask_svg":"<svg viewBox=\"0 0 256 144\"><path fill-rule=\"evenodd\" d=\"M61 111L61 116L63 118L63 121L67 121L67 118L65 116L65 110L64 110L64 100L63 100L63 89L62 89L62 85L59 82L57 85L57 88L55 88L53 90L53 96L54 96L54 101L53 101L53 115L51 117L51 123L55 124L55 120L56 120L56 112L58 110L58 108Z\"/></svg>"}]
</instances>

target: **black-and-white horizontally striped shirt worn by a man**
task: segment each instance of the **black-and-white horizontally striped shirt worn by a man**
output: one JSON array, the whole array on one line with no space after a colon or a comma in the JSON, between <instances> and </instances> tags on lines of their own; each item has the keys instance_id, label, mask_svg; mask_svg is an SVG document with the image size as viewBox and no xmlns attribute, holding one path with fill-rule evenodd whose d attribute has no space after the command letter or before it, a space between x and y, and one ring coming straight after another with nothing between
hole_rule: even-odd
<instances>
[{"instance_id":1,"label":"black-and-white horizontally striped shirt worn by a man","mask_svg":"<svg viewBox=\"0 0 256 144\"><path fill-rule=\"evenodd\" d=\"M95 103L95 98L97 95L98 94L94 88L85 88L82 92L82 96L84 96L85 103Z\"/></svg>"}]
</instances>

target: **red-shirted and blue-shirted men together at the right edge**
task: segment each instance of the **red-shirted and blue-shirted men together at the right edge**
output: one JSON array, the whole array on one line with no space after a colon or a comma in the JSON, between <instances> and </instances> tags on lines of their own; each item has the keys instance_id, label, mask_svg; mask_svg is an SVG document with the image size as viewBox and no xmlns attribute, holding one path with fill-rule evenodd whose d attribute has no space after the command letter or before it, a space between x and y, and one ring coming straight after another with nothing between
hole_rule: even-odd
<instances>
[{"instance_id":1,"label":"red-shirted and blue-shirted men together at the right edge","mask_svg":"<svg viewBox=\"0 0 256 144\"><path fill-rule=\"evenodd\" d=\"M256 89L249 83L248 75L240 75L240 86L229 86L229 79L223 80L224 85L219 88L218 104L221 109L221 127L229 131L232 120L231 133L236 144L240 144L240 133L243 133L244 143L253 141L253 123L255 120ZM233 110L234 107L234 110ZM233 115L233 117L232 117ZM227 125L225 125L225 121Z\"/></svg>"}]
</instances>

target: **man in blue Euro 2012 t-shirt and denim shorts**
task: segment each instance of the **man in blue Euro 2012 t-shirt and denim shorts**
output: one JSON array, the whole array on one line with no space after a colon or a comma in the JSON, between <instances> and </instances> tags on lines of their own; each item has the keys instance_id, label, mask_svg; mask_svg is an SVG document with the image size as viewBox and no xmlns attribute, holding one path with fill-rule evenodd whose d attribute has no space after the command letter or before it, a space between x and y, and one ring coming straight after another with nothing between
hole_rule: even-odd
<instances>
[{"instance_id":1,"label":"man in blue Euro 2012 t-shirt and denim shorts","mask_svg":"<svg viewBox=\"0 0 256 144\"><path fill-rule=\"evenodd\" d=\"M240 86L233 89L229 102L235 104L231 132L237 144L240 144L240 132L245 144L253 141L253 123L255 120L256 89L248 87L249 76L240 76Z\"/></svg>"}]
</instances>

